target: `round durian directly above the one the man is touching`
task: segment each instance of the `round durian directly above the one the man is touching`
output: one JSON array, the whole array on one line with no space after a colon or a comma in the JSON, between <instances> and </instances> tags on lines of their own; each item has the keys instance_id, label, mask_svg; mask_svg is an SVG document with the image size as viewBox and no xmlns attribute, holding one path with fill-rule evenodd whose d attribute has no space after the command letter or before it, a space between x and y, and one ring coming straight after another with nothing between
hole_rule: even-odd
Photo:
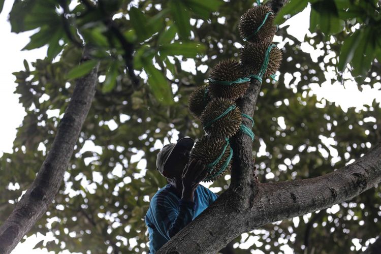
<instances>
[{"instance_id":1,"label":"round durian directly above the one the man is touching","mask_svg":"<svg viewBox=\"0 0 381 254\"><path fill-rule=\"evenodd\" d=\"M224 116L221 116L229 108L231 110ZM230 138L238 132L241 125L241 110L236 107L234 101L224 98L213 98L201 113L200 120L204 131L210 136Z\"/></svg>"}]
</instances>

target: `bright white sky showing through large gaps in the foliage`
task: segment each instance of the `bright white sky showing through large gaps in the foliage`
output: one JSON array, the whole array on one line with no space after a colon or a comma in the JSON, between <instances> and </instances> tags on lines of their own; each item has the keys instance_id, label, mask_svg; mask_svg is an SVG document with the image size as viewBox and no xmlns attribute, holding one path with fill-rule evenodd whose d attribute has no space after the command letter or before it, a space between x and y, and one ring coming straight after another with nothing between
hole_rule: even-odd
<instances>
[{"instance_id":1,"label":"bright white sky showing through large gaps in the foliage","mask_svg":"<svg viewBox=\"0 0 381 254\"><path fill-rule=\"evenodd\" d=\"M16 128L21 124L25 111L21 104L18 104L18 95L14 94L16 84L14 83L15 77L12 72L23 70L23 60L28 62L34 61L37 58L44 58L46 55L46 48L35 49L31 51L20 51L29 41L28 37L33 33L11 34L10 24L7 17L11 10L13 1L5 1L3 12L0 15L0 34L2 35L2 47L0 47L0 119L6 124L1 125L0 130L0 156L3 152L12 152L13 140L16 137ZM293 17L285 24L290 24L288 33L295 36L298 40L303 41L306 34L310 34L309 27L309 9ZM276 41L276 40L275 40ZM320 54L319 50L313 50L308 47L307 43L302 44L302 49L311 53L314 57ZM192 65L193 66L193 65ZM192 66L188 68L193 68ZM186 67L185 67L186 68ZM333 73L327 73L327 76L334 75ZM374 98L377 98L378 102L381 100L381 90L364 88L363 92L359 92L357 85L354 82L345 83L345 88L338 83L331 84L330 82L324 82L322 87L319 85L312 85L313 92L317 95L318 99L325 98L331 102L336 102L343 110L346 111L348 107L362 108L364 104L369 104ZM376 88L381 88L381 85ZM171 140L175 142L175 140ZM208 186L209 184L204 184ZM304 215L307 216L308 215ZM309 214L310 216L310 214ZM307 218L306 217L306 218ZM299 218L294 219L294 223L298 223ZM247 236L246 236L247 237ZM17 247L12 251L12 254L36 254L36 253L48 253L46 249L32 250L37 242L45 237L39 235L39 237L31 236L27 238L24 243L19 243ZM50 237L48 237L50 238ZM247 248L255 242L256 239L249 239L240 247ZM291 249L285 247L283 249L285 253L292 253ZM50 253L54 253L51 251ZM70 253L64 251L63 253ZM263 253L262 251L255 251L253 253Z\"/></svg>"}]
</instances>

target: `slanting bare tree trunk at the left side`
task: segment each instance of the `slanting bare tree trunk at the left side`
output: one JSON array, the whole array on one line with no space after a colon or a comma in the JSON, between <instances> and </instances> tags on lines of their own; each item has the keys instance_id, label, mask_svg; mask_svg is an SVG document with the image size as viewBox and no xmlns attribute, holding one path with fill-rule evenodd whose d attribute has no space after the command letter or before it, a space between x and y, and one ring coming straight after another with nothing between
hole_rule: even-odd
<instances>
[{"instance_id":1,"label":"slanting bare tree trunk at the left side","mask_svg":"<svg viewBox=\"0 0 381 254\"><path fill-rule=\"evenodd\" d=\"M83 60L88 59L85 50ZM98 83L98 67L77 79L73 96L60 120L57 134L40 171L15 209L0 227L0 253L10 253L22 237L47 211L63 180L82 124L90 109Z\"/></svg>"}]
</instances>

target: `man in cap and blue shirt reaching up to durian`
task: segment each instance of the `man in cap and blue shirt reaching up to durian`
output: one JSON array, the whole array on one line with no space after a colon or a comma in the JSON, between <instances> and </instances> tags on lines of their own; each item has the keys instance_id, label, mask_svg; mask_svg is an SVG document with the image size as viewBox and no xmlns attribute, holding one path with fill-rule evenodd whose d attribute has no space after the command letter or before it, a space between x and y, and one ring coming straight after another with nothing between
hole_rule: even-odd
<instances>
[{"instance_id":1,"label":"man in cap and blue shirt reaching up to durian","mask_svg":"<svg viewBox=\"0 0 381 254\"><path fill-rule=\"evenodd\" d=\"M149 250L155 253L169 239L197 217L217 195L199 182L206 176L201 161L188 164L194 144L191 138L182 138L168 144L157 154L156 169L169 184L153 196L145 222L149 233Z\"/></svg>"}]
</instances>

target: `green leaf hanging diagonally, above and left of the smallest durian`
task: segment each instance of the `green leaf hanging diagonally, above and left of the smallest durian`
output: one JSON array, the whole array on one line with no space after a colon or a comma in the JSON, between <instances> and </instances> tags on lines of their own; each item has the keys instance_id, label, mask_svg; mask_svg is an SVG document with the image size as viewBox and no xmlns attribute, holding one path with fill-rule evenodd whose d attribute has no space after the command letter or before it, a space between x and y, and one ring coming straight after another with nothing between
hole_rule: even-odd
<instances>
[{"instance_id":1,"label":"green leaf hanging diagonally, above and left of the smallest durian","mask_svg":"<svg viewBox=\"0 0 381 254\"><path fill-rule=\"evenodd\" d=\"M144 62L144 70L148 74L148 85L155 98L165 105L173 104L171 86L168 84L164 74L148 61Z\"/></svg>"}]
</instances>

